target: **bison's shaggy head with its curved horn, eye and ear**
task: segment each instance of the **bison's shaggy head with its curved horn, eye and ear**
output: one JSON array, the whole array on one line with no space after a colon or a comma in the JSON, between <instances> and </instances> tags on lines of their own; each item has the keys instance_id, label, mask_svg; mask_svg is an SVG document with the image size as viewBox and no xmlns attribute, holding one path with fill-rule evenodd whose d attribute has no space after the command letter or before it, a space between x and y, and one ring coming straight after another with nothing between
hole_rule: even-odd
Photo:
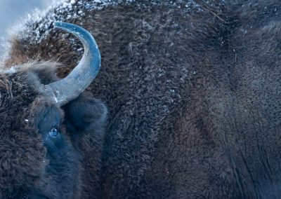
<instances>
[{"instance_id":1,"label":"bison's shaggy head with its curved horn, eye and ear","mask_svg":"<svg viewBox=\"0 0 281 199\"><path fill-rule=\"evenodd\" d=\"M98 46L81 27L54 25L77 36L84 55L63 79L53 62L1 72L0 198L79 198L98 177L107 109L84 91L100 68Z\"/></svg>"}]
</instances>

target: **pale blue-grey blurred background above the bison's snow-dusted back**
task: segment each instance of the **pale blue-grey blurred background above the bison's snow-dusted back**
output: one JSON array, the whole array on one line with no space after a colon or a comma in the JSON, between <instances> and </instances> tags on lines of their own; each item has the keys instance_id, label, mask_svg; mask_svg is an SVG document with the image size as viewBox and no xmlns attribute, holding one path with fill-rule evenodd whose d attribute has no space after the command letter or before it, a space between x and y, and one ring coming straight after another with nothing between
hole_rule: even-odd
<instances>
[{"instance_id":1,"label":"pale blue-grey blurred background above the bison's snow-dusted back","mask_svg":"<svg viewBox=\"0 0 281 199\"><path fill-rule=\"evenodd\" d=\"M53 0L0 0L0 37L35 8L47 8Z\"/></svg>"}]
</instances>

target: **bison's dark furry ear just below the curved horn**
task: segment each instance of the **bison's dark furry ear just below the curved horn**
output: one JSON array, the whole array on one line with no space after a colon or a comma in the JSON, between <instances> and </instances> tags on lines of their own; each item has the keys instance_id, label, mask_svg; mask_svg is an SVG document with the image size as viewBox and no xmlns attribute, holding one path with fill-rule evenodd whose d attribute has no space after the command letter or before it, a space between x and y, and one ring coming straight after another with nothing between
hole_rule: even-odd
<instances>
[{"instance_id":1,"label":"bison's dark furry ear just below the curved horn","mask_svg":"<svg viewBox=\"0 0 281 199\"><path fill-rule=\"evenodd\" d=\"M65 121L78 132L103 132L107 122L107 107L89 92L66 104Z\"/></svg>"}]
</instances>

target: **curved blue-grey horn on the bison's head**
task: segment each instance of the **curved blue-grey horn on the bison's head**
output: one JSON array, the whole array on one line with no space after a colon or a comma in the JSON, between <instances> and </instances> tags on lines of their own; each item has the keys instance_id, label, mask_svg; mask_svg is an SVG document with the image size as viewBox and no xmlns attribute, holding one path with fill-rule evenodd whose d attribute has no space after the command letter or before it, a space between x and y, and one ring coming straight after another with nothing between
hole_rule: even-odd
<instances>
[{"instance_id":1,"label":"curved blue-grey horn on the bison's head","mask_svg":"<svg viewBox=\"0 0 281 199\"><path fill-rule=\"evenodd\" d=\"M77 36L84 46L83 57L68 76L43 85L42 92L51 95L59 106L63 106L78 97L96 78L100 70L100 51L95 39L86 29L65 22L54 22L53 25Z\"/></svg>"}]
</instances>

